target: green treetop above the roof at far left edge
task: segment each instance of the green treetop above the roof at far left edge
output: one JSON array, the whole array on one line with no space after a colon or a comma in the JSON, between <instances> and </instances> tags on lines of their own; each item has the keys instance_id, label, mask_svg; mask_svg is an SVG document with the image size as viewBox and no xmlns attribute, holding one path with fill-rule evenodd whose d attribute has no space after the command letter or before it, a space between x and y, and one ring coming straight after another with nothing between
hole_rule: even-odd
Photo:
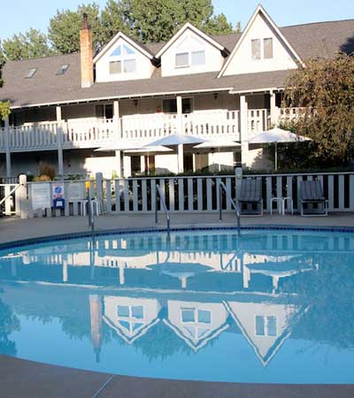
<instances>
[{"instance_id":1,"label":"green treetop above the roof at far left edge","mask_svg":"<svg viewBox=\"0 0 354 398\"><path fill-rule=\"evenodd\" d=\"M29 29L25 34L13 34L2 43L2 53L5 59L21 60L37 57L48 57L50 49L48 38L37 29Z\"/></svg>"}]
</instances>

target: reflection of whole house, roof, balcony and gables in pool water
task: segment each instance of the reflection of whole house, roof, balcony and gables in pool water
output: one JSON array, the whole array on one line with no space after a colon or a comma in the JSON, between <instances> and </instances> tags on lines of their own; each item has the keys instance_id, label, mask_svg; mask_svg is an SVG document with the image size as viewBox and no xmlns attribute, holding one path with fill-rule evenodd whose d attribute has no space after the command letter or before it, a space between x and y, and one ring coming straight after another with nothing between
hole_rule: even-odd
<instances>
[{"instance_id":1,"label":"reflection of whole house, roof, balcony and gables in pool water","mask_svg":"<svg viewBox=\"0 0 354 398\"><path fill-rule=\"evenodd\" d=\"M330 286L330 259L335 254L345 263L353 252L350 234L304 232L45 243L0 253L3 307L31 317L42 311L61 318L63 328L65 319L89 325L75 335L89 335L97 363L107 336L146 351L140 341L156 335L154 349L173 356L177 347L199 353L228 333L242 336L247 355L267 367L290 336L312 341L306 319L317 302L308 289L322 279Z\"/></svg>"}]
</instances>

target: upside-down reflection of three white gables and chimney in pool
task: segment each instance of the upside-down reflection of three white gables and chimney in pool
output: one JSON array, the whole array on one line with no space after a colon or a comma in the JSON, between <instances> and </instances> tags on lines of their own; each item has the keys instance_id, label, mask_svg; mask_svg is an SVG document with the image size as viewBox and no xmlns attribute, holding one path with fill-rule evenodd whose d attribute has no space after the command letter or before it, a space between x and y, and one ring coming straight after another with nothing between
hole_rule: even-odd
<instances>
[{"instance_id":1,"label":"upside-down reflection of three white gables and chimney in pool","mask_svg":"<svg viewBox=\"0 0 354 398\"><path fill-rule=\"evenodd\" d=\"M259 297L258 297L259 300ZM253 348L260 363L269 364L304 312L304 306L269 302L165 301L128 296L90 295L91 341L100 352L103 323L127 344L134 344L162 322L194 352L204 348L219 334L236 326ZM234 325L233 325L234 324ZM232 347L230 347L232 349Z\"/></svg>"}]
</instances>

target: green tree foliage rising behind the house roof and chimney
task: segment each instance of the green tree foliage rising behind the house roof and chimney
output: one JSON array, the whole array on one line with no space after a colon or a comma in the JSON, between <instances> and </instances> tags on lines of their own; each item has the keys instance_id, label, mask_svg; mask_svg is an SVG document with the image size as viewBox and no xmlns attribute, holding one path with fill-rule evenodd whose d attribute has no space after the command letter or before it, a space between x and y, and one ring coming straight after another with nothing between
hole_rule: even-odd
<instances>
[{"instance_id":1,"label":"green tree foliage rising behind the house roof and chimney","mask_svg":"<svg viewBox=\"0 0 354 398\"><path fill-rule=\"evenodd\" d=\"M107 0L61 10L50 19L48 34L30 29L0 43L1 57L9 60L47 57L80 50L82 14L89 15L94 49L101 49L119 31L142 42L168 41L187 21L206 34L229 34L233 27L224 14L214 14L211 0ZM236 30L239 29L237 25Z\"/></svg>"}]
</instances>

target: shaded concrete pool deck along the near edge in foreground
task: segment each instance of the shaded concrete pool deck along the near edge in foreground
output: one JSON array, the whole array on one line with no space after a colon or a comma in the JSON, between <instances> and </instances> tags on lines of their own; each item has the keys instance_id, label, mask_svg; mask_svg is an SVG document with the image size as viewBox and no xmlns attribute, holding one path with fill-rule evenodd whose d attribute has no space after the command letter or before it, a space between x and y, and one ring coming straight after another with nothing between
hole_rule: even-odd
<instances>
[{"instance_id":1,"label":"shaded concrete pool deck along the near edge in foreground","mask_svg":"<svg viewBox=\"0 0 354 398\"><path fill-rule=\"evenodd\" d=\"M143 379L0 356L2 398L352 398L354 386Z\"/></svg>"}]
</instances>

